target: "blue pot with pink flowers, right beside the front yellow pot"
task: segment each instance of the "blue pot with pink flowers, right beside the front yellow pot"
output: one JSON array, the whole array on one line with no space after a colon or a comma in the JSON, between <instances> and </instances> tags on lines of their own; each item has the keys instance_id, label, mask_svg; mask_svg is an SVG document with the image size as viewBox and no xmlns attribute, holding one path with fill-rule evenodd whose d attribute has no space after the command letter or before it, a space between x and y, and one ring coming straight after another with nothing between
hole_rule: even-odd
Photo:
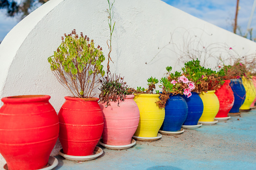
<instances>
[{"instance_id":1,"label":"blue pot with pink flowers, right beside the front yellow pot","mask_svg":"<svg viewBox=\"0 0 256 170\"><path fill-rule=\"evenodd\" d=\"M181 127L188 115L188 105L182 96L191 97L191 91L195 89L195 84L181 72L170 73L172 67L166 67L166 70L167 78L161 78L161 85L159 86L162 88L162 96L167 96L165 98L168 99L164 107L165 118L160 133L179 134L184 131ZM161 106L160 104L159 106Z\"/></svg>"}]
</instances>

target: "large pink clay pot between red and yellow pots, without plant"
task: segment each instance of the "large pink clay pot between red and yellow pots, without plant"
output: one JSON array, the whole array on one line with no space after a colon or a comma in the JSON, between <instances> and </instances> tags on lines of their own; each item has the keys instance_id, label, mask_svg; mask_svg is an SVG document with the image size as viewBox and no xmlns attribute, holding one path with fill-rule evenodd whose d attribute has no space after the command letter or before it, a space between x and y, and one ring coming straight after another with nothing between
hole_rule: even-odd
<instances>
[{"instance_id":1,"label":"large pink clay pot between red and yellow pots, without plant","mask_svg":"<svg viewBox=\"0 0 256 170\"><path fill-rule=\"evenodd\" d=\"M133 100L134 95L126 95L124 101L100 103L104 117L103 143L109 145L131 144L131 138L139 124L139 108Z\"/></svg>"}]
</instances>

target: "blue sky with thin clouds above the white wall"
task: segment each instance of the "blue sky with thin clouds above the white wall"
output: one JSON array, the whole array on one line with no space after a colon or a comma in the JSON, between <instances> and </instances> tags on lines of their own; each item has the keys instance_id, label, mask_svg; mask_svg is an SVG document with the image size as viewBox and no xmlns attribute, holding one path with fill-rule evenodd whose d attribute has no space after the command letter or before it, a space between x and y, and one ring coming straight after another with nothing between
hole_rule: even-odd
<instances>
[{"instance_id":1,"label":"blue sky with thin clouds above the white wall","mask_svg":"<svg viewBox=\"0 0 256 170\"><path fill-rule=\"evenodd\" d=\"M120 0L117 0L120 1ZM236 0L162 0L197 18L212 23L228 31L232 31L232 22L235 16ZM238 25L244 34L250 16L253 0L241 0L239 3ZM0 11L0 41L18 23L18 19L6 17ZM251 22L253 37L256 37L256 10Z\"/></svg>"}]
</instances>

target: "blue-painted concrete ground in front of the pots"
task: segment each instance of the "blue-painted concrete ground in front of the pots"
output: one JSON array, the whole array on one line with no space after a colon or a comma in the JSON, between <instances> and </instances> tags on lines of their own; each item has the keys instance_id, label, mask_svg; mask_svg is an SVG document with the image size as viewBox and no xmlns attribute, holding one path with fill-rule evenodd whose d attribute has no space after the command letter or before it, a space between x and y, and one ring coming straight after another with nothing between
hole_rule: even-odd
<instances>
[{"instance_id":1,"label":"blue-painted concrete ground in front of the pots","mask_svg":"<svg viewBox=\"0 0 256 170\"><path fill-rule=\"evenodd\" d=\"M95 160L55 156L54 169L256 169L256 110L216 125L187 129L157 141L136 141L127 150L104 148Z\"/></svg>"}]
</instances>

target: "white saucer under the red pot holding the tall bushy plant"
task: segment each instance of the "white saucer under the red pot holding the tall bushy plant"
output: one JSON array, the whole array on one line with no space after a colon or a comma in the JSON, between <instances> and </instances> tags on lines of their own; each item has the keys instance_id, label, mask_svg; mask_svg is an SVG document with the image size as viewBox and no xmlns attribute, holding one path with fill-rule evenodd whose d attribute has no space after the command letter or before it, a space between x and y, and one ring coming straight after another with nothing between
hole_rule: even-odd
<instances>
[{"instance_id":1,"label":"white saucer under the red pot holding the tall bushy plant","mask_svg":"<svg viewBox=\"0 0 256 170\"><path fill-rule=\"evenodd\" d=\"M59 150L59 155L63 156L65 159L74 160L74 161L93 160L93 159L99 157L102 154L103 154L103 150L102 150L102 148L100 148L98 146L95 147L94 154L89 155L89 156L72 156L72 155L64 154L62 149Z\"/></svg>"}]
</instances>

